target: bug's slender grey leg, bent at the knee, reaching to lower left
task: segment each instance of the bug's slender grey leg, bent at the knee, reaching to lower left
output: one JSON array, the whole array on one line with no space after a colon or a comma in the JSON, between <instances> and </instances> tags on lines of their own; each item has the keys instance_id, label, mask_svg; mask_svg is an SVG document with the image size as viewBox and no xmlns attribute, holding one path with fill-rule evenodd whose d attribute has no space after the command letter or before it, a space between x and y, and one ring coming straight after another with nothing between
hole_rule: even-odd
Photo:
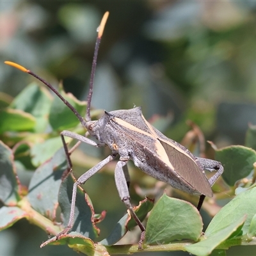
<instances>
[{"instance_id":1,"label":"bug's slender grey leg, bent at the knee, reaching to lower left","mask_svg":"<svg viewBox=\"0 0 256 256\"><path fill-rule=\"evenodd\" d=\"M58 239L63 234L67 234L67 232L69 232L71 230L71 228L73 227L73 225L74 225L74 214L75 214L75 205L76 205L77 186L79 186L81 184L84 184L86 182L86 180L90 179L90 177L92 177L92 175L99 172L100 169L102 169L106 164L108 164L110 161L112 161L115 157L116 157L116 155L108 156L106 159L104 159L100 163L96 164L95 166L93 166L93 168L91 168L86 173L81 175L79 177L79 179L77 179L77 181L74 183L73 191L72 191L72 201L71 201L71 209L70 209L70 216L69 216L69 220L68 220L68 225L64 230L62 230L56 236L56 239Z\"/></svg>"}]
</instances>

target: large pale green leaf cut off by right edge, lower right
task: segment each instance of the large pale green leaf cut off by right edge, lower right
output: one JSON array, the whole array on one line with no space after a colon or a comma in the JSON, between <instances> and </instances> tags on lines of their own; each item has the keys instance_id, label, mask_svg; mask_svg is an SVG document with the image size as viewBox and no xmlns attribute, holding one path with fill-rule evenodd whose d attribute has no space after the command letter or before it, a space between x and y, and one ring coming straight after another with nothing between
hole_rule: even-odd
<instances>
[{"instance_id":1,"label":"large pale green leaf cut off by right edge, lower right","mask_svg":"<svg viewBox=\"0 0 256 256\"><path fill-rule=\"evenodd\" d=\"M212 234L218 232L218 230L232 225L232 223L237 221L239 218L242 218L244 214L247 215L247 218L242 230L243 234L246 234L249 230L252 218L256 213L255 198L255 186L239 193L239 195L222 207L222 209L214 216L211 223L205 230L205 235L207 237L212 236Z\"/></svg>"}]
</instances>

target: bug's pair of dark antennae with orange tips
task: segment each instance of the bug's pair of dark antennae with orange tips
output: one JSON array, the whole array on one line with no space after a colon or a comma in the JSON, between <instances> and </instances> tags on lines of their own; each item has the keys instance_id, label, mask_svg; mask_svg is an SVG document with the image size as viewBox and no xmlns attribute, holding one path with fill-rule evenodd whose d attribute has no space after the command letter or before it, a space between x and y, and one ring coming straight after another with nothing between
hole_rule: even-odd
<instances>
[{"instance_id":1,"label":"bug's pair of dark antennae with orange tips","mask_svg":"<svg viewBox=\"0 0 256 256\"><path fill-rule=\"evenodd\" d=\"M89 87L89 93L88 93L88 97L87 97L87 109L86 109L86 120L84 120L83 116L81 116L77 110L66 100L63 98L63 96L47 81L45 81L44 79L42 79L40 76L36 75L33 71L22 67L21 65L14 63L12 61L4 61L5 64L10 65L12 67L18 68L19 70L28 73L29 75L35 77L36 79L38 79L39 81L41 81L42 83L44 83L48 88L50 88L52 90L52 92L54 92L63 102L66 106L68 106L68 108L70 108L70 110L76 115L76 117L79 119L79 121L81 122L82 125L84 125L86 127L86 122L91 120L91 116L90 116L90 107L91 107L91 101L92 101L92 92L93 92L93 80L94 80L94 76L95 76L95 68L97 65L97 55L98 55L98 51L99 51L99 44L100 44L100 40L104 31L104 27L106 24L106 21L108 19L108 15L109 12L106 12L100 22L100 26L99 26L99 31L98 31L98 36L97 36L97 40L96 40L96 44L95 44L95 52L94 52L94 56L93 56L93 63L92 63L92 72L91 72L91 77L90 77L90 87Z\"/></svg>"}]
</instances>

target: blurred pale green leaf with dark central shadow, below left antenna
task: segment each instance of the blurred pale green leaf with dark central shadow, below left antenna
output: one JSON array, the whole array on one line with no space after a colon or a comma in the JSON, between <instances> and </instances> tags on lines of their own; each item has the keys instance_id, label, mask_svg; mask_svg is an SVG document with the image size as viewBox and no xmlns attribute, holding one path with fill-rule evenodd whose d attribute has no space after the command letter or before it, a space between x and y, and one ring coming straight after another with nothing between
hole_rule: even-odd
<instances>
[{"instance_id":1,"label":"blurred pale green leaf with dark central shadow, below left antenna","mask_svg":"<svg viewBox=\"0 0 256 256\"><path fill-rule=\"evenodd\" d=\"M15 97L10 107L33 115L36 118L35 131L43 132L48 124L51 102L52 97L44 86L31 83Z\"/></svg>"}]
</instances>

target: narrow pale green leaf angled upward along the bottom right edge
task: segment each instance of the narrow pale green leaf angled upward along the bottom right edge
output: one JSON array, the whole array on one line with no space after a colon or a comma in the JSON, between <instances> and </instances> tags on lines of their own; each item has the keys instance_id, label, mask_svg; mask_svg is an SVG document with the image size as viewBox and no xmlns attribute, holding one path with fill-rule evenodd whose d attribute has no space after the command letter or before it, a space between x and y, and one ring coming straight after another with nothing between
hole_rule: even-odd
<instances>
[{"instance_id":1,"label":"narrow pale green leaf angled upward along the bottom right edge","mask_svg":"<svg viewBox=\"0 0 256 256\"><path fill-rule=\"evenodd\" d=\"M221 228L214 234L210 234L209 236L205 234L205 236L207 237L205 240L185 246L185 248L188 252L193 253L194 255L207 256L214 250L214 248L216 248L219 244L225 241L233 232L235 232L237 228L241 227L245 220L246 215L242 216L233 223L230 223L230 225L226 225L226 227Z\"/></svg>"}]
</instances>

